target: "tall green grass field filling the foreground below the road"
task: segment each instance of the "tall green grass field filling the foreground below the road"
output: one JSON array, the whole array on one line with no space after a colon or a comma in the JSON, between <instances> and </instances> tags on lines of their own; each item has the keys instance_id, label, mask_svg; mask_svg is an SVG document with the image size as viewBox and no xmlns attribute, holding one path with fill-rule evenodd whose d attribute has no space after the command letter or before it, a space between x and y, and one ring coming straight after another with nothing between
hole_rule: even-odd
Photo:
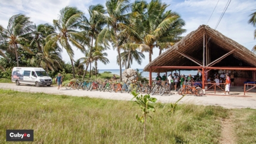
<instances>
[{"instance_id":1,"label":"tall green grass field filling the foreground below the road","mask_svg":"<svg viewBox=\"0 0 256 144\"><path fill-rule=\"evenodd\" d=\"M154 106L147 143L219 143L221 120L231 116L236 143L256 143L255 110L182 104L170 114L170 104ZM135 114L133 101L0 89L0 143L7 129L33 129L34 143L143 143Z\"/></svg>"}]
</instances>

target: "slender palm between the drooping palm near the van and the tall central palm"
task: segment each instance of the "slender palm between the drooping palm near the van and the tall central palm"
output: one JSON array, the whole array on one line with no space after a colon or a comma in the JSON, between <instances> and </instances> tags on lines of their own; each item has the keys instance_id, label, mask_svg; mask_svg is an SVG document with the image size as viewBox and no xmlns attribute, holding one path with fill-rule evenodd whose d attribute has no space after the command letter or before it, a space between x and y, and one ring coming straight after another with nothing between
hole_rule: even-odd
<instances>
[{"instance_id":1,"label":"slender palm between the drooping palm near the van and the tall central palm","mask_svg":"<svg viewBox=\"0 0 256 144\"><path fill-rule=\"evenodd\" d=\"M82 30L85 30L85 33L90 37L89 57L91 57L92 51L93 51L92 50L93 49L93 39L96 39L96 37L101 32L104 25L106 24L105 20L100 15L97 15L96 13L99 12L101 14L105 14L106 11L105 11L103 5L98 4L98 5L90 5L88 12L89 12L90 18L88 20L86 17L83 17L83 21L82 21L80 28ZM83 78L85 78L89 64L90 64L90 71L91 71L91 62L89 62L86 64L86 69L83 74ZM89 74L89 77L90 77L90 75L91 75L91 72Z\"/></svg>"}]
</instances>

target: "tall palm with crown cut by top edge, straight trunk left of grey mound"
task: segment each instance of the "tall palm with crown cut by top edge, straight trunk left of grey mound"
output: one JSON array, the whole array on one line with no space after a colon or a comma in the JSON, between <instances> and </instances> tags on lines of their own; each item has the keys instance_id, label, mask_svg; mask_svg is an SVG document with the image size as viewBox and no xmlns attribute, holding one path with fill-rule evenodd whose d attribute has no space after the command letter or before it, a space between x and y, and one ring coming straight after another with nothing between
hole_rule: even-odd
<instances>
[{"instance_id":1,"label":"tall palm with crown cut by top edge, straight trunk left of grey mound","mask_svg":"<svg viewBox=\"0 0 256 144\"><path fill-rule=\"evenodd\" d=\"M106 8L107 15L105 19L107 20L107 27L101 31L98 37L99 43L104 42L105 46L108 46L107 40L110 40L113 49L117 49L118 53L118 65L120 69L120 81L121 81L121 54L120 54L120 43L118 41L118 34L121 31L121 25L123 23L129 23L128 15L130 4L128 0L107 0ZM105 38L105 39L104 39Z\"/></svg>"}]
</instances>

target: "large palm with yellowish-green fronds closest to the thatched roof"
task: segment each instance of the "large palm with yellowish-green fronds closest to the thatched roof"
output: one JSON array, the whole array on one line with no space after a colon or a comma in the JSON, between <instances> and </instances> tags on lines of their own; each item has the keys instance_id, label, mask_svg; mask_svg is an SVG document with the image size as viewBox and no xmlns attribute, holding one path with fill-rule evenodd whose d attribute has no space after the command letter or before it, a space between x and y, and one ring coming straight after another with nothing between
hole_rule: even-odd
<instances>
[{"instance_id":1,"label":"large palm with yellowish-green fronds closest to the thatched roof","mask_svg":"<svg viewBox=\"0 0 256 144\"><path fill-rule=\"evenodd\" d=\"M149 52L149 62L152 61L151 56L153 48L157 46L157 40L163 37L168 28L180 18L179 15L173 13L164 15L167 7L168 5L160 0L152 0L146 7L143 21L143 27L145 28L143 42L148 47L147 49L142 49L142 52Z\"/></svg>"}]
</instances>

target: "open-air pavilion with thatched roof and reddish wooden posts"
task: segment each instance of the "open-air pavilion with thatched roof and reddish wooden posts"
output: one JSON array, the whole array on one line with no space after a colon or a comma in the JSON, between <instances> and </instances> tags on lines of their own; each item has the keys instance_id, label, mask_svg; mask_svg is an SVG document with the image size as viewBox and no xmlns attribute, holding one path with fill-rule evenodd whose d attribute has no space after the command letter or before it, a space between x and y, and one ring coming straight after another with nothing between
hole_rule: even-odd
<instances>
[{"instance_id":1,"label":"open-air pavilion with thatched roof and reddish wooden posts","mask_svg":"<svg viewBox=\"0 0 256 144\"><path fill-rule=\"evenodd\" d=\"M143 71L149 72L152 84L152 72L177 69L200 71L203 89L208 76L215 72L233 73L235 86L243 86L246 81L255 81L256 55L208 25L200 25L148 63Z\"/></svg>"}]
</instances>

